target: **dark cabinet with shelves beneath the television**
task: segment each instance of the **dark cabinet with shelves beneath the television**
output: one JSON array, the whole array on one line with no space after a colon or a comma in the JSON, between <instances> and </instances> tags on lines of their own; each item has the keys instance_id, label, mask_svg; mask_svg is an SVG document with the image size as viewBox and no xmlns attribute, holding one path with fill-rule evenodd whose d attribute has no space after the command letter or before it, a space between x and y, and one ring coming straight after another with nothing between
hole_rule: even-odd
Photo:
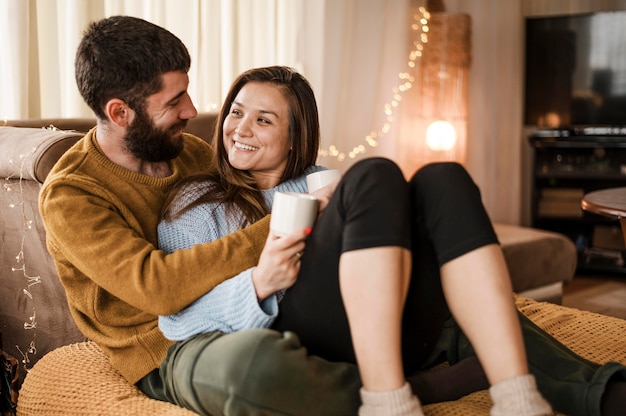
<instances>
[{"instance_id":1,"label":"dark cabinet with shelves beneath the television","mask_svg":"<svg viewBox=\"0 0 626 416\"><path fill-rule=\"evenodd\" d=\"M581 209L586 193L626 186L626 129L540 131L529 143L532 226L571 238L580 272L626 274L619 221Z\"/></svg>"}]
</instances>

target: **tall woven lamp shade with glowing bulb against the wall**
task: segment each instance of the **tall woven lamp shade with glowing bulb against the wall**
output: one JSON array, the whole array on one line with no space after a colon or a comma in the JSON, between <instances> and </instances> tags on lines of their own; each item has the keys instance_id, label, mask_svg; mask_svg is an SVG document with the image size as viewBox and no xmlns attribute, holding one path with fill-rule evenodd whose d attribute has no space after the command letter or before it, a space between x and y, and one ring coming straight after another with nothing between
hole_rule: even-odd
<instances>
[{"instance_id":1,"label":"tall woven lamp shade with glowing bulb against the wall","mask_svg":"<svg viewBox=\"0 0 626 416\"><path fill-rule=\"evenodd\" d=\"M415 25L419 36L411 46L421 43L420 55L415 60L415 80L404 114L411 121L404 134L414 141L411 157L418 166L434 161L465 162L471 24L467 14L426 12Z\"/></svg>"}]
</instances>

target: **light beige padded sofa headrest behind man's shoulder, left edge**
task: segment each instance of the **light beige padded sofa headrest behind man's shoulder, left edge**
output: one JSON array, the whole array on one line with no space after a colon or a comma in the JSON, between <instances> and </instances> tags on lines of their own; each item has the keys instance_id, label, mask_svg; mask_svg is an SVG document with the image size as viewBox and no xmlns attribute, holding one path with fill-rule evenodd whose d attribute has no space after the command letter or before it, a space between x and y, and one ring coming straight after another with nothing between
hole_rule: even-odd
<instances>
[{"instance_id":1,"label":"light beige padded sofa headrest behind man's shoulder, left edge","mask_svg":"<svg viewBox=\"0 0 626 416\"><path fill-rule=\"evenodd\" d=\"M0 177L39 183L83 133L52 128L0 126Z\"/></svg>"}]
</instances>

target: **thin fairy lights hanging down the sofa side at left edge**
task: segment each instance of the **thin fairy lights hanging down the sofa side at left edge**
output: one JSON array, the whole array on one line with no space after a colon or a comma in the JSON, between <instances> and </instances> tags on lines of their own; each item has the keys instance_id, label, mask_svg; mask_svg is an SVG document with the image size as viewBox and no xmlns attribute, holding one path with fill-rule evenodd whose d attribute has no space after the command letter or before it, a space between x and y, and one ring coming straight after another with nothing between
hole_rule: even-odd
<instances>
[{"instance_id":1,"label":"thin fairy lights hanging down the sofa side at left edge","mask_svg":"<svg viewBox=\"0 0 626 416\"><path fill-rule=\"evenodd\" d=\"M32 153L34 154L36 150L37 148L34 147L32 149ZM22 350L19 345L15 346L17 350L20 352L20 354L22 355L21 362L26 372L30 371L30 368L28 367L28 364L30 364L30 356L37 354L37 346L36 346L37 311L35 308L36 302L35 302L35 297L33 296L33 293L32 293L32 288L33 286L36 286L41 283L41 276L31 276L28 273L27 267L26 267L26 255L24 252L24 247L26 243L26 233L30 231L33 227L33 220L26 213L26 207L25 207L26 204L25 204L25 199L24 199L24 188L23 188L23 181L25 180L23 172L24 172L24 166L25 166L28 156L29 155L19 156L19 169L18 169L19 178L16 178L13 175L8 176L4 178L6 183L3 185L3 188L6 192L13 193L16 195L16 198L15 198L16 202L10 203L9 208L20 209L20 214L22 216L22 231L21 231L22 238L20 242L20 250L15 256L15 266L11 267L11 271L22 273L22 276L24 277L25 284L26 284L25 288L22 289L22 294L26 296L28 299L30 299L33 305L31 315L28 317L28 320L24 322L24 329L27 331L33 331L33 338L30 341L28 348L26 348L26 350ZM16 162L14 159L10 159L9 163L18 166L18 162ZM15 181L15 179L17 180ZM13 181L9 182L10 180L13 180Z\"/></svg>"}]
</instances>

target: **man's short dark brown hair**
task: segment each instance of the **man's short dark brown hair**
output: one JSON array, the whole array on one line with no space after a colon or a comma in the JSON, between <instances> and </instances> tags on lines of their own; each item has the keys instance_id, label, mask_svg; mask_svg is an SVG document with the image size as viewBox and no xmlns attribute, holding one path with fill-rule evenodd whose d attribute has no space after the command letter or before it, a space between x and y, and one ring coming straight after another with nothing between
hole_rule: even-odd
<instances>
[{"instance_id":1,"label":"man's short dark brown hair","mask_svg":"<svg viewBox=\"0 0 626 416\"><path fill-rule=\"evenodd\" d=\"M124 100L136 111L162 88L166 72L187 73L191 58L185 45L166 29L130 16L93 22L76 51L78 90L96 116L105 120L105 104Z\"/></svg>"}]
</instances>

